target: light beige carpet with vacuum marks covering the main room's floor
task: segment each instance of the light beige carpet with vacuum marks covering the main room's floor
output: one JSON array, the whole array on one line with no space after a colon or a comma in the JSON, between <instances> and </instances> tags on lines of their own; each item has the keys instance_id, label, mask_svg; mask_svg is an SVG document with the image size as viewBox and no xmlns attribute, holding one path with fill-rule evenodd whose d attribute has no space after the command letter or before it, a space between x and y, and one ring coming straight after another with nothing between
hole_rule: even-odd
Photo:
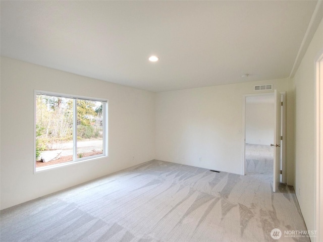
<instances>
[{"instance_id":1,"label":"light beige carpet with vacuum marks covering the main room's floor","mask_svg":"<svg viewBox=\"0 0 323 242\"><path fill-rule=\"evenodd\" d=\"M274 240L305 230L292 187L256 175L149 161L1 211L1 241Z\"/></svg>"}]
</instances>

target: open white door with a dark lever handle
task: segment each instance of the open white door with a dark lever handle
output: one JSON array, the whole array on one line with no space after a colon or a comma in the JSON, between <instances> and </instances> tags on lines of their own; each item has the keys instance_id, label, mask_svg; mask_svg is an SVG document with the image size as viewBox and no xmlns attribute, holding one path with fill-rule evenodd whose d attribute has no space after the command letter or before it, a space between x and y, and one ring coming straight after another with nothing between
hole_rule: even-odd
<instances>
[{"instance_id":1,"label":"open white door with a dark lever handle","mask_svg":"<svg viewBox=\"0 0 323 242\"><path fill-rule=\"evenodd\" d=\"M278 191L281 173L281 94L275 90L275 125L274 125L274 173L273 173L273 192Z\"/></svg>"}]
</instances>

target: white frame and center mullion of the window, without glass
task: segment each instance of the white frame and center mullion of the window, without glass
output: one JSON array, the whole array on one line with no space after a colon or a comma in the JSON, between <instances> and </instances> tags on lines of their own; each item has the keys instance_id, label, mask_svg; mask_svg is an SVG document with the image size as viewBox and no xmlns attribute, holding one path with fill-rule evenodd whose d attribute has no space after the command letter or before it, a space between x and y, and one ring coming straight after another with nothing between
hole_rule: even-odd
<instances>
[{"instance_id":1,"label":"white frame and center mullion of the window, without glass","mask_svg":"<svg viewBox=\"0 0 323 242\"><path fill-rule=\"evenodd\" d=\"M61 163L61 164L54 164L54 165L47 165L44 167L36 168L36 99L37 95L47 95L47 96L56 96L56 97L63 97L63 98L71 98L73 99L73 161ZM102 102L102 132L103 132L103 152L102 154L87 156L78 158L77 157L77 100L87 100L87 101L99 101ZM78 96L78 95L71 95L71 94L64 94L64 93L56 93L56 92L47 92L47 91L40 91L34 90L34 173L38 173L45 170L56 169L60 167L75 165L81 162L96 160L99 158L109 157L109 149L108 149L108 110L109 110L109 100L102 99L102 98L92 98L86 96Z\"/></svg>"}]
</instances>

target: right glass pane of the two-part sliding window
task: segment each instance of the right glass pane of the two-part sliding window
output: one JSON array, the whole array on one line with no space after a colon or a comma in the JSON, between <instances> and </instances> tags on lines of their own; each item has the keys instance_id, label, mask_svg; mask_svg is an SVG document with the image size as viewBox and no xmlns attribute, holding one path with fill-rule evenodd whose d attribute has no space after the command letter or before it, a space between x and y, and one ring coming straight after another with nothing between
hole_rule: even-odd
<instances>
[{"instance_id":1,"label":"right glass pane of the two-part sliding window","mask_svg":"<svg viewBox=\"0 0 323 242\"><path fill-rule=\"evenodd\" d=\"M103 103L77 100L77 157L103 154Z\"/></svg>"}]
</instances>

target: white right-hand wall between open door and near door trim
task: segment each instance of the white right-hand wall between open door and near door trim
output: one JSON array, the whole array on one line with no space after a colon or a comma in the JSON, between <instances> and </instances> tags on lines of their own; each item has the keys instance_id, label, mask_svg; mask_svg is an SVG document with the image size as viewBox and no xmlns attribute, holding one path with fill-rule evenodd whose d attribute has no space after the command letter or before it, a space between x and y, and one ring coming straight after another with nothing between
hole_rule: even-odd
<instances>
[{"instance_id":1,"label":"white right-hand wall between open door and near door trim","mask_svg":"<svg viewBox=\"0 0 323 242\"><path fill-rule=\"evenodd\" d=\"M315 230L315 61L322 52L323 20L290 84L295 100L294 189L308 230Z\"/></svg>"}]
</instances>

